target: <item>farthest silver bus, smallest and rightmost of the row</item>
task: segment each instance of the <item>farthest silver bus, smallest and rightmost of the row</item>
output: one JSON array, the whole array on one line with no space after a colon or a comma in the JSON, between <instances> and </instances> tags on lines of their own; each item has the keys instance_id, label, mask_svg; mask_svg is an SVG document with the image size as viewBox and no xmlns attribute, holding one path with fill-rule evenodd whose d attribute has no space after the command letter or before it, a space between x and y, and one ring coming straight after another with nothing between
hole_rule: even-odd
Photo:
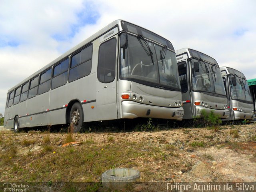
<instances>
[{"instance_id":1,"label":"farthest silver bus, smallest and rightmost of the row","mask_svg":"<svg viewBox=\"0 0 256 192\"><path fill-rule=\"evenodd\" d=\"M244 74L230 67L221 67L220 70L230 110L228 120L252 120L254 118L254 106Z\"/></svg>"}]
</instances>

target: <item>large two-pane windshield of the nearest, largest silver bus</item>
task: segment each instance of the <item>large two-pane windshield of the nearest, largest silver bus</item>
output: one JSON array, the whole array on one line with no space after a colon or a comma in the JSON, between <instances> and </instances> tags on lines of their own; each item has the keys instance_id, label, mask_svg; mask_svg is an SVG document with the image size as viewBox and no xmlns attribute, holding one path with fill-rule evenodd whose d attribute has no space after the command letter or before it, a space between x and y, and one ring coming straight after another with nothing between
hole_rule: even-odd
<instances>
[{"instance_id":1,"label":"large two-pane windshield of the nearest, largest silver bus","mask_svg":"<svg viewBox=\"0 0 256 192\"><path fill-rule=\"evenodd\" d=\"M142 45L139 37L128 35L128 48L121 49L120 77L168 86L180 91L175 53L152 42L145 43L149 48L144 42Z\"/></svg>"}]
</instances>

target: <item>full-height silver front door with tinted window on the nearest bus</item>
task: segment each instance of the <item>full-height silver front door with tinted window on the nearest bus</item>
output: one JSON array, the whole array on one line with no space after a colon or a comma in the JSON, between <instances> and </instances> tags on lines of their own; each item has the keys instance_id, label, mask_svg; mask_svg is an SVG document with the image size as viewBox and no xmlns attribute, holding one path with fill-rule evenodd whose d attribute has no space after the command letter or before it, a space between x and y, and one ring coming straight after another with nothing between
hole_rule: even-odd
<instances>
[{"instance_id":1,"label":"full-height silver front door with tinted window on the nearest bus","mask_svg":"<svg viewBox=\"0 0 256 192\"><path fill-rule=\"evenodd\" d=\"M116 37L99 46L97 69L97 116L99 120L117 119L116 102Z\"/></svg>"}]
</instances>

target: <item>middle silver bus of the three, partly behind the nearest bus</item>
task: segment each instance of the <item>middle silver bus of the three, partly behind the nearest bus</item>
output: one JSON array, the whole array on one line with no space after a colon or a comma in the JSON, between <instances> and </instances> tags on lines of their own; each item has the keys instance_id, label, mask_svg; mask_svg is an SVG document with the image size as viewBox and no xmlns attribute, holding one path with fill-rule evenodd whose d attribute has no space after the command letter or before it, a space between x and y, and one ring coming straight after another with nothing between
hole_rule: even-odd
<instances>
[{"instance_id":1,"label":"middle silver bus of the three, partly behind the nearest bus","mask_svg":"<svg viewBox=\"0 0 256 192\"><path fill-rule=\"evenodd\" d=\"M216 60L183 48L176 51L184 108L183 119L201 117L202 110L220 118L229 116L226 92Z\"/></svg>"}]
</instances>

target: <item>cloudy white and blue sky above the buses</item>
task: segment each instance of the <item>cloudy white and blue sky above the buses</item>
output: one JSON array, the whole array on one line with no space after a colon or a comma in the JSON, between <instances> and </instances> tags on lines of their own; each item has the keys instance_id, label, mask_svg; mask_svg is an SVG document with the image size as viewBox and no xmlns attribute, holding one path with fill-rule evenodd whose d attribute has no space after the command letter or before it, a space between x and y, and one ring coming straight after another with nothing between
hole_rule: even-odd
<instances>
[{"instance_id":1,"label":"cloudy white and blue sky above the buses","mask_svg":"<svg viewBox=\"0 0 256 192\"><path fill-rule=\"evenodd\" d=\"M8 89L123 19L256 78L255 0L0 0L0 113Z\"/></svg>"}]
</instances>

